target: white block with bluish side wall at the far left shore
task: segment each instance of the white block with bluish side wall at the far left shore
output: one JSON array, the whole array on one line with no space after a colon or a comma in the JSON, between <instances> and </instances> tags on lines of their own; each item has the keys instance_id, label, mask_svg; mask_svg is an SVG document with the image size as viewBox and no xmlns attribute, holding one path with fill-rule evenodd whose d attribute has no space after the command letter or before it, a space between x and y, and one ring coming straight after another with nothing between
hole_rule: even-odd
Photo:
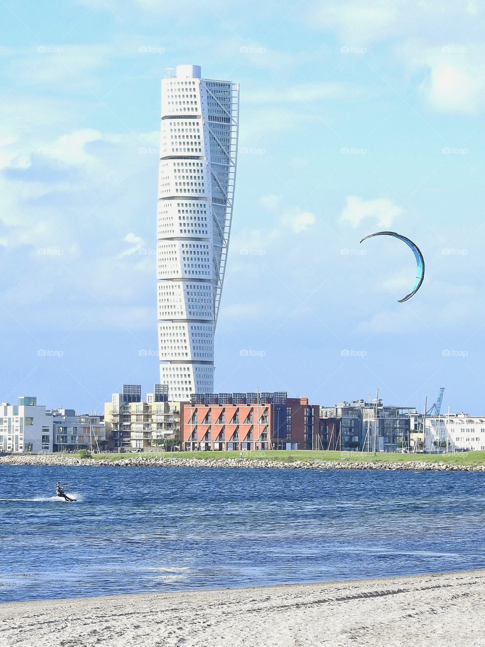
<instances>
[{"instance_id":1,"label":"white block with bluish side wall at the far left shore","mask_svg":"<svg viewBox=\"0 0 485 647\"><path fill-rule=\"evenodd\" d=\"M18 404L2 402L0 408L1 452L52 452L52 416L36 397L19 397Z\"/></svg>"}]
</instances>

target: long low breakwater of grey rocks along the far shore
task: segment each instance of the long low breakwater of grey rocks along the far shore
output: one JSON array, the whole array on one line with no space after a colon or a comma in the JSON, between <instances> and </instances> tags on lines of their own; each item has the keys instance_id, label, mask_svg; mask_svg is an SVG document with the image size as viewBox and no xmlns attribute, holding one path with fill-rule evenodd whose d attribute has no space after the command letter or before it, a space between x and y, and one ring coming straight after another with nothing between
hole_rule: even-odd
<instances>
[{"instance_id":1,"label":"long low breakwater of grey rocks along the far shore","mask_svg":"<svg viewBox=\"0 0 485 647\"><path fill-rule=\"evenodd\" d=\"M205 468L243 468L243 469L283 469L283 470L414 470L418 472L485 472L485 465L448 465L447 463L427 463L426 461L407 461L392 463L379 461L265 461L260 459L223 458L181 458L174 454L163 456L143 455L116 459L79 458L65 454L8 455L0 456L2 465L39 465L72 467L205 467Z\"/></svg>"}]
</instances>

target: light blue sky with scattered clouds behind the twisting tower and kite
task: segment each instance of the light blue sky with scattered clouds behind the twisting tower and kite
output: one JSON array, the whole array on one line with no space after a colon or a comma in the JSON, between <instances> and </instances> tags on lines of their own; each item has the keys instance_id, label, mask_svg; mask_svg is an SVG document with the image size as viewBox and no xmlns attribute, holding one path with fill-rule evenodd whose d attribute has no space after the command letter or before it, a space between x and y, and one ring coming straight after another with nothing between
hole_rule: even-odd
<instances>
[{"instance_id":1,"label":"light blue sky with scattered clouds behind the twisting tower and kite","mask_svg":"<svg viewBox=\"0 0 485 647\"><path fill-rule=\"evenodd\" d=\"M240 83L215 391L485 413L485 3L2 0L0 400L159 381L167 68ZM414 256L425 280L408 302Z\"/></svg>"}]
</instances>

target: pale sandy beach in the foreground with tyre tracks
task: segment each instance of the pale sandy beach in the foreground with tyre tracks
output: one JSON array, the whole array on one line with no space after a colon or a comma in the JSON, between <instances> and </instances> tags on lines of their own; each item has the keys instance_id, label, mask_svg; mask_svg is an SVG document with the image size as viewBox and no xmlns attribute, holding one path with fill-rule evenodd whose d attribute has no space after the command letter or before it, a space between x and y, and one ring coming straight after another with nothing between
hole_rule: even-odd
<instances>
[{"instance_id":1,"label":"pale sandy beach in the foreground with tyre tracks","mask_svg":"<svg viewBox=\"0 0 485 647\"><path fill-rule=\"evenodd\" d=\"M1 647L485 645L485 570L0 604Z\"/></svg>"}]
</instances>

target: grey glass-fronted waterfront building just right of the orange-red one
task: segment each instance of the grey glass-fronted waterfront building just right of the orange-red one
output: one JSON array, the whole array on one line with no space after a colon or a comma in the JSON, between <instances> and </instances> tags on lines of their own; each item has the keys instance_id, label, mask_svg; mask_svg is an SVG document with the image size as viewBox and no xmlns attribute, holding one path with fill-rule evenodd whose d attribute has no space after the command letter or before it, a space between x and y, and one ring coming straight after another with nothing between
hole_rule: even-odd
<instances>
[{"instance_id":1,"label":"grey glass-fronted waterfront building just right of the orange-red one","mask_svg":"<svg viewBox=\"0 0 485 647\"><path fill-rule=\"evenodd\" d=\"M414 407L353 400L321 407L324 449L395 452L409 446L410 414Z\"/></svg>"}]
</instances>

